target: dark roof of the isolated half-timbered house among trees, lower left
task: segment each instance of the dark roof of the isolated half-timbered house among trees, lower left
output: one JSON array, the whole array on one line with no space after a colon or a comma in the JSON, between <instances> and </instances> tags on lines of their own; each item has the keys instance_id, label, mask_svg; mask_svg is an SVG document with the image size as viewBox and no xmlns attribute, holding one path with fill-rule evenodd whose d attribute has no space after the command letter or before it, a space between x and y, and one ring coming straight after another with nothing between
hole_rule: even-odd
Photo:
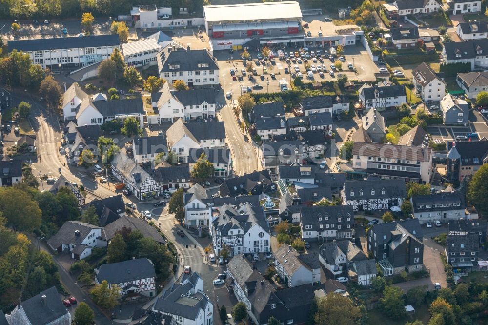
<instances>
[{"instance_id":1,"label":"dark roof of the isolated half-timbered house among trees, lower left","mask_svg":"<svg viewBox=\"0 0 488 325\"><path fill-rule=\"evenodd\" d=\"M151 260L146 258L127 260L119 263L102 264L95 269L99 283L119 284L139 279L155 278L156 271Z\"/></svg>"}]
</instances>

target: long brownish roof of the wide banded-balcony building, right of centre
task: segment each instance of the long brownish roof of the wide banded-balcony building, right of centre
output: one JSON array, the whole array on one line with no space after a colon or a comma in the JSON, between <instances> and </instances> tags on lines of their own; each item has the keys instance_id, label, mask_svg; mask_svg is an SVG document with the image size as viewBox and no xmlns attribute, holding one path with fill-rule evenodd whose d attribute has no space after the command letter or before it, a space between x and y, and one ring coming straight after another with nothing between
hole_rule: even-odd
<instances>
[{"instance_id":1,"label":"long brownish roof of the wide banded-balcony building, right of centre","mask_svg":"<svg viewBox=\"0 0 488 325\"><path fill-rule=\"evenodd\" d=\"M411 147L388 143L354 142L352 154L428 162L432 155L432 148Z\"/></svg>"}]
</instances>

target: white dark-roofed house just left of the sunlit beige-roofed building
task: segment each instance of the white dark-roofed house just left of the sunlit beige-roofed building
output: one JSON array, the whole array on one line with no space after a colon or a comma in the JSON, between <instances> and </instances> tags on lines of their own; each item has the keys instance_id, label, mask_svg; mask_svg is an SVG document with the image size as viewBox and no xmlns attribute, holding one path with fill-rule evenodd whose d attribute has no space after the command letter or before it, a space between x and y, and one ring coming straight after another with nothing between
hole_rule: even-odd
<instances>
[{"instance_id":1,"label":"white dark-roofed house just left of the sunlit beige-roofed building","mask_svg":"<svg viewBox=\"0 0 488 325\"><path fill-rule=\"evenodd\" d=\"M136 163L152 163L160 153L166 155L166 137L164 135L140 137L132 139L132 154Z\"/></svg>"}]
</instances>

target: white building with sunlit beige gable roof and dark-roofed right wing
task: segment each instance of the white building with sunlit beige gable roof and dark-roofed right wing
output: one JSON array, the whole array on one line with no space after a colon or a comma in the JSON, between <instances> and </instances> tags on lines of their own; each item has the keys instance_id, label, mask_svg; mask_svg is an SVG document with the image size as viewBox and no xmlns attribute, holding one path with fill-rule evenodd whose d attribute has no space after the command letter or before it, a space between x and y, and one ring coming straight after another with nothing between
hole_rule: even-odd
<instances>
[{"instance_id":1,"label":"white building with sunlit beige gable roof and dark-roofed right wing","mask_svg":"<svg viewBox=\"0 0 488 325\"><path fill-rule=\"evenodd\" d=\"M190 149L223 148L224 122L185 122L178 119L166 131L168 147L178 155L180 163L188 161Z\"/></svg>"}]
</instances>

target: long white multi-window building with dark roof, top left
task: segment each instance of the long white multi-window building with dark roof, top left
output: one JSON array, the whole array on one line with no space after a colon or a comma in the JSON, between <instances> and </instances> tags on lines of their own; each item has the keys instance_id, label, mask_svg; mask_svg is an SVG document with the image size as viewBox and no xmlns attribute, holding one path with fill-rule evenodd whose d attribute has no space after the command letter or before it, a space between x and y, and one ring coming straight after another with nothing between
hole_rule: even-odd
<instances>
[{"instance_id":1,"label":"long white multi-window building with dark roof, top left","mask_svg":"<svg viewBox=\"0 0 488 325\"><path fill-rule=\"evenodd\" d=\"M34 64L43 69L72 69L100 62L110 57L115 49L120 50L117 34L76 37L55 37L9 41L9 52L18 50L27 53Z\"/></svg>"}]
</instances>

